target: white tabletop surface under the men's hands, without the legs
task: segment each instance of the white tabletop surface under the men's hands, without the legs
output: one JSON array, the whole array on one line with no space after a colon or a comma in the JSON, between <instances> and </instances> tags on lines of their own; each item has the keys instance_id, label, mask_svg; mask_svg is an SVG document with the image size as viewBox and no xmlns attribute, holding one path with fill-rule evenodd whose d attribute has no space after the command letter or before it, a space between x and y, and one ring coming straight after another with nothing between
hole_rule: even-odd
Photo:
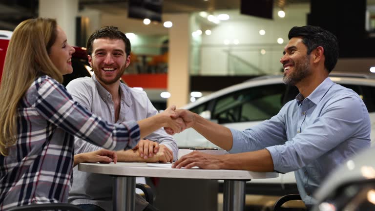
<instances>
[{"instance_id":1,"label":"white tabletop surface under the men's hands, without the legs","mask_svg":"<svg viewBox=\"0 0 375 211\"><path fill-rule=\"evenodd\" d=\"M278 177L276 172L253 172L225 169L172 169L170 164L123 163L92 164L80 163L78 170L122 176L167 177L188 179L265 179Z\"/></svg>"}]
</instances>

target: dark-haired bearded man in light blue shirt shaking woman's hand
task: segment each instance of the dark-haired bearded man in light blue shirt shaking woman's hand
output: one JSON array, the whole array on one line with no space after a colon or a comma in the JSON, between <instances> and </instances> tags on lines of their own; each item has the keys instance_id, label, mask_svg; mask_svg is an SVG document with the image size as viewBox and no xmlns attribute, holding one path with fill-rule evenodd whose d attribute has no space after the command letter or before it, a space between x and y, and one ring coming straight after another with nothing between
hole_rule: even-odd
<instances>
[{"instance_id":1,"label":"dark-haired bearded man in light blue shirt shaking woman's hand","mask_svg":"<svg viewBox=\"0 0 375 211\"><path fill-rule=\"evenodd\" d=\"M244 131L179 110L187 127L231 154L194 152L179 159L174 168L294 171L301 198L310 208L315 203L312 193L324 178L370 147L370 117L362 99L328 78L338 58L336 37L319 27L303 26L293 27L289 39L280 62L284 83L300 92L295 100L270 120Z\"/></svg>"}]
</instances>

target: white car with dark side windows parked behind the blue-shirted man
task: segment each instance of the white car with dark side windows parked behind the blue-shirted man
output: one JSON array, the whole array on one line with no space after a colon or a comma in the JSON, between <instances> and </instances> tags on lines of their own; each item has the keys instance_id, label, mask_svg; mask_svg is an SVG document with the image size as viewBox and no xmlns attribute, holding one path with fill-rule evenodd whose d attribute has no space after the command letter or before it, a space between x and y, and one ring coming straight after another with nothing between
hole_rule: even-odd
<instances>
[{"instance_id":1,"label":"white car with dark side windows parked behind the blue-shirted man","mask_svg":"<svg viewBox=\"0 0 375 211\"><path fill-rule=\"evenodd\" d=\"M375 78L369 75L332 73L333 82L353 89L359 94L370 114L372 131L375 131ZM244 130L276 115L281 107L298 94L295 86L287 86L282 76L264 76L216 91L182 108L229 128ZM174 136L179 148L214 147L206 138L189 128ZM371 145L375 134L371 134ZM294 173L280 174L274 179L251 181L262 194L285 195L297 192ZM249 185L250 185L249 184Z\"/></svg>"}]
</instances>

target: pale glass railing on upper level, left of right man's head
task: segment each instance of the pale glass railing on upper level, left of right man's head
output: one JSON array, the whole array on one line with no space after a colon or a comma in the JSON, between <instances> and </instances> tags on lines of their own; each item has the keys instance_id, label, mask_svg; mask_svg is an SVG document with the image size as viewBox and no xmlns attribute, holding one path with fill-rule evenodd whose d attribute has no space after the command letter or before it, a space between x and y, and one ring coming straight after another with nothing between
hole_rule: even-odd
<instances>
[{"instance_id":1,"label":"pale glass railing on upper level, left of right man's head","mask_svg":"<svg viewBox=\"0 0 375 211\"><path fill-rule=\"evenodd\" d=\"M281 74L284 45L230 44L191 46L191 75Z\"/></svg>"}]
</instances>

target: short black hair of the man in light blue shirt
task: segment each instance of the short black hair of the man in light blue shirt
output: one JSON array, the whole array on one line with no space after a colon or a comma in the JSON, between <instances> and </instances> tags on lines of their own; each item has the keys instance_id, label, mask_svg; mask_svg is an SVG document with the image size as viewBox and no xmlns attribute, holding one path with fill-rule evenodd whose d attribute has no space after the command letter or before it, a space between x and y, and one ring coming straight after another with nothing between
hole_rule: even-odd
<instances>
[{"instance_id":1,"label":"short black hair of the man in light blue shirt","mask_svg":"<svg viewBox=\"0 0 375 211\"><path fill-rule=\"evenodd\" d=\"M318 26L294 26L288 34L289 40L293 37L302 37L302 42L307 46L307 55L313 49L321 46L324 49L325 62L324 66L330 73L337 63L338 59L338 42L336 36L331 32Z\"/></svg>"}]
</instances>

